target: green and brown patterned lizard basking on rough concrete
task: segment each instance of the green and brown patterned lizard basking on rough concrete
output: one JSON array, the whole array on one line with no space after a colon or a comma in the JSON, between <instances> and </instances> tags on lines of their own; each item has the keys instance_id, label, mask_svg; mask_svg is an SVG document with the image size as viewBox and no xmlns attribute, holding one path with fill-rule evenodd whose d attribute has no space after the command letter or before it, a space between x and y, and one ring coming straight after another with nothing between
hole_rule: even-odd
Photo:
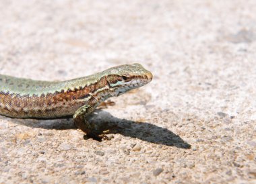
<instances>
[{"instance_id":1,"label":"green and brown patterned lizard basking on rough concrete","mask_svg":"<svg viewBox=\"0 0 256 184\"><path fill-rule=\"evenodd\" d=\"M106 132L86 118L102 101L152 81L141 64L123 64L67 81L36 81L0 75L0 114L11 118L51 119L73 116L75 126L88 138Z\"/></svg>"}]
</instances>

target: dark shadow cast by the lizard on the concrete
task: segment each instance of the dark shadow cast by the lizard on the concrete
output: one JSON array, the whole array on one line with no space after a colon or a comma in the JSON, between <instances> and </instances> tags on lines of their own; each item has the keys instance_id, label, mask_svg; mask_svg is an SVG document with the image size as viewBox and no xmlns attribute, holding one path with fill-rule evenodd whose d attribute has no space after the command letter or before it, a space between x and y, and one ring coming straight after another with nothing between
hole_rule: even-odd
<instances>
[{"instance_id":1,"label":"dark shadow cast by the lizard on the concrete","mask_svg":"<svg viewBox=\"0 0 256 184\"><path fill-rule=\"evenodd\" d=\"M154 144L176 146L177 148L184 149L191 148L190 144L166 128L161 128L147 122L134 122L131 120L115 118L110 113L102 111L101 109L97 109L88 120L89 122L94 122L94 124L100 124L100 126L103 126L106 129L110 129L110 133L113 134L122 134L123 136L138 138ZM73 119L71 117L53 120L15 119L15 123L30 126L32 128L55 130L77 129L75 124L73 124Z\"/></svg>"}]
</instances>

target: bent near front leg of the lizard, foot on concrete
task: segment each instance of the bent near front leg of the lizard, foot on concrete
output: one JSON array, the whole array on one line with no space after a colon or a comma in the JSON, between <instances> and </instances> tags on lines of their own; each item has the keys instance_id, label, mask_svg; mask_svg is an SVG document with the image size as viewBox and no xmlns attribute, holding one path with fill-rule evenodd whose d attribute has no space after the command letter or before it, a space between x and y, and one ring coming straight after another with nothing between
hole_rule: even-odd
<instances>
[{"instance_id":1,"label":"bent near front leg of the lizard, foot on concrete","mask_svg":"<svg viewBox=\"0 0 256 184\"><path fill-rule=\"evenodd\" d=\"M102 131L102 128L92 124L92 122L88 122L86 118L94 111L95 107L90 105L84 105L77 109L73 115L73 120L77 128L86 133L88 138L94 138L96 140L101 140L102 138L106 138L104 135L107 131Z\"/></svg>"}]
</instances>

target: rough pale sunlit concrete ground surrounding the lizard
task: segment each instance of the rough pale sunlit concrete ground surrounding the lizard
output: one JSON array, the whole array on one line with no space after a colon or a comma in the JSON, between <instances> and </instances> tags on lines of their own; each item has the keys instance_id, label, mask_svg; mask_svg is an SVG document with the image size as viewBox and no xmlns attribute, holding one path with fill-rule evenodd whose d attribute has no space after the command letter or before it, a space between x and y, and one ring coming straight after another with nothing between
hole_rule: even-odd
<instances>
[{"instance_id":1,"label":"rough pale sunlit concrete ground surrounding the lizard","mask_svg":"<svg viewBox=\"0 0 256 184\"><path fill-rule=\"evenodd\" d=\"M0 1L0 73L65 80L140 62L153 81L73 120L0 116L0 183L256 182L256 1Z\"/></svg>"}]
</instances>

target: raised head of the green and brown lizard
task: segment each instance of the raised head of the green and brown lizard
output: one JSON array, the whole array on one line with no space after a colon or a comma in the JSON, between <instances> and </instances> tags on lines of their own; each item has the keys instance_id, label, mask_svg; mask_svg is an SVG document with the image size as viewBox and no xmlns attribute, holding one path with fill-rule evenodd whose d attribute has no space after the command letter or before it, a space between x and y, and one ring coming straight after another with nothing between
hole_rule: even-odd
<instances>
[{"instance_id":1,"label":"raised head of the green and brown lizard","mask_svg":"<svg viewBox=\"0 0 256 184\"><path fill-rule=\"evenodd\" d=\"M106 71L106 80L115 96L146 85L152 78L152 73L138 63L115 66Z\"/></svg>"}]
</instances>

